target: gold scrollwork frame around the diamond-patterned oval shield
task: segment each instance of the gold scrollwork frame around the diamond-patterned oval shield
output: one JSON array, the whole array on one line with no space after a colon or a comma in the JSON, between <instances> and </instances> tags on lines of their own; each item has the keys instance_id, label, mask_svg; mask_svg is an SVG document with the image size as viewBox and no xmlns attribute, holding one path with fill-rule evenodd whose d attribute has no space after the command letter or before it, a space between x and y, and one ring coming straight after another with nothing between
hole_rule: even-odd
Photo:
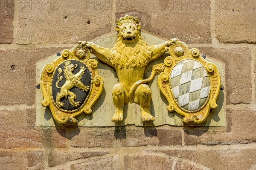
<instances>
[{"instance_id":1,"label":"gold scrollwork frame around the diamond-patterned oval shield","mask_svg":"<svg viewBox=\"0 0 256 170\"><path fill-rule=\"evenodd\" d=\"M218 107L216 100L220 92L221 77L215 64L206 61L199 53L198 49L189 49L188 46L183 42L177 42L169 47L170 56L166 57L164 64L166 69L158 77L158 86L160 91L167 99L169 105L167 110L169 112L177 112L182 115L182 119L185 124L201 124L203 123L208 115L210 109ZM175 65L182 60L192 59L198 61L204 66L209 77L210 89L206 103L196 111L188 111L180 107L175 101L172 89L170 88L170 73L174 69Z\"/></svg>"}]
</instances>

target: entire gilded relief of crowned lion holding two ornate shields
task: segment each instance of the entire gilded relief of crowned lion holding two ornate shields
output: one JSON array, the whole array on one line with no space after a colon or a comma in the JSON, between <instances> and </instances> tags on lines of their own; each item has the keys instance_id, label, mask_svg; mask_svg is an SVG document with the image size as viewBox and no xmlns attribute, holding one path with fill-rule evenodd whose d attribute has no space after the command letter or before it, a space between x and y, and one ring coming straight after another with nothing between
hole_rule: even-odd
<instances>
[{"instance_id":1,"label":"entire gilded relief of crowned lion holding two ornate shields","mask_svg":"<svg viewBox=\"0 0 256 170\"><path fill-rule=\"evenodd\" d=\"M155 118L150 112L151 89L147 83L156 74L160 92L167 99L169 112L182 115L185 124L201 124L216 108L220 90L217 67L204 60L198 49L189 49L178 39L148 46L140 32L137 17L125 15L116 20L117 41L108 49L92 42L79 41L71 51L44 67L41 87L43 106L50 106L53 117L61 124L77 124L75 116L90 114L91 107L103 89L98 75L97 61L90 53L116 70L119 83L113 86L115 113L111 121L123 121L124 104L140 105L141 120L150 123ZM149 62L169 52L164 63L155 64L151 75L143 79ZM161 114L161 113L157 113Z\"/></svg>"}]
</instances>

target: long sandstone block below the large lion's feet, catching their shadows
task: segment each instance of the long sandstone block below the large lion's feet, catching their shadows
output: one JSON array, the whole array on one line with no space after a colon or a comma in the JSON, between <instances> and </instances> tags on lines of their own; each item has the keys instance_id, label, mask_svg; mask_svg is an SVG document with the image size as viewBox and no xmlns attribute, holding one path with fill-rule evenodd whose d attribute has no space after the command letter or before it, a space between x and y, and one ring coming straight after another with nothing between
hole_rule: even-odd
<instances>
[{"instance_id":1,"label":"long sandstone block below the large lion's feet, catching their shadows","mask_svg":"<svg viewBox=\"0 0 256 170\"><path fill-rule=\"evenodd\" d=\"M67 132L73 147L134 147L181 145L181 132L161 127L77 128ZM79 133L79 135L77 135Z\"/></svg>"}]
</instances>

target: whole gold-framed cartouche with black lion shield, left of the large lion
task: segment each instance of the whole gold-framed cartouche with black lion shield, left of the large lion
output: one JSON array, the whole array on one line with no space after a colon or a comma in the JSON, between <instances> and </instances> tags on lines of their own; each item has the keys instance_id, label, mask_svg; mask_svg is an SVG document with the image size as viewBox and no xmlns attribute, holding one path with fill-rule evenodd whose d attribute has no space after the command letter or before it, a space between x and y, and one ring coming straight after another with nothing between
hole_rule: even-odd
<instances>
[{"instance_id":1,"label":"whole gold-framed cartouche with black lion shield, left of the large lion","mask_svg":"<svg viewBox=\"0 0 256 170\"><path fill-rule=\"evenodd\" d=\"M50 107L55 121L73 125L78 123L76 116L92 112L91 107L103 90L97 63L90 59L90 50L79 43L44 66L40 79L44 95L41 104Z\"/></svg>"}]
</instances>

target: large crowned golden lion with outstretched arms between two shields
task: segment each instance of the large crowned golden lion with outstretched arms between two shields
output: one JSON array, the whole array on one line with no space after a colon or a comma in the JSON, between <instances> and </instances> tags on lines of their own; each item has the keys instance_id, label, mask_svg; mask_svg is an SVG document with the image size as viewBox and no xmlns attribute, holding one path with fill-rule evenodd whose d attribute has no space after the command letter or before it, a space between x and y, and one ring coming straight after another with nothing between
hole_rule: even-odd
<instances>
[{"instance_id":1,"label":"large crowned golden lion with outstretched arms between two shields","mask_svg":"<svg viewBox=\"0 0 256 170\"><path fill-rule=\"evenodd\" d=\"M150 61L167 52L168 47L178 39L148 46L141 36L138 18L130 15L116 20L116 30L118 38L112 49L100 47L92 42L79 41L100 61L116 70L119 83L113 86L115 114L111 121L118 123L123 120L123 106L129 102L140 104L143 122L154 121L155 118L150 113L151 90L148 85L142 84L148 82L143 80L144 70Z\"/></svg>"}]
</instances>

